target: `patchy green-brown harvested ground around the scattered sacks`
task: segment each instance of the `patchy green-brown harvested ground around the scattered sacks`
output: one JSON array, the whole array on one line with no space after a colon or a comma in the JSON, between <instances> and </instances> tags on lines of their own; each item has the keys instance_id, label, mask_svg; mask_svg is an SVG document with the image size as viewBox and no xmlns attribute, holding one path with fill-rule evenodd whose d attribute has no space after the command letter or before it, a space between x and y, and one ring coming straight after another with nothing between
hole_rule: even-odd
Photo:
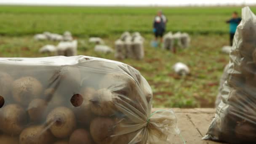
<instances>
[{"instance_id":1,"label":"patchy green-brown harvested ground around the scattered sacks","mask_svg":"<svg viewBox=\"0 0 256 144\"><path fill-rule=\"evenodd\" d=\"M105 38L109 46L119 35ZM190 48L179 49L176 54L150 47L152 35L144 34L145 59L136 61L125 59L122 62L138 69L148 80L154 93L154 107L214 107L219 79L229 56L220 52L228 44L228 35L192 35ZM117 60L114 54L104 55L93 51L87 39L78 37L79 55L95 56ZM45 44L57 44L50 41L35 41L31 36L0 38L0 57L42 57L38 53ZM118 61L118 60L117 60ZM191 68L192 75L179 77L172 66L177 61Z\"/></svg>"}]
</instances>

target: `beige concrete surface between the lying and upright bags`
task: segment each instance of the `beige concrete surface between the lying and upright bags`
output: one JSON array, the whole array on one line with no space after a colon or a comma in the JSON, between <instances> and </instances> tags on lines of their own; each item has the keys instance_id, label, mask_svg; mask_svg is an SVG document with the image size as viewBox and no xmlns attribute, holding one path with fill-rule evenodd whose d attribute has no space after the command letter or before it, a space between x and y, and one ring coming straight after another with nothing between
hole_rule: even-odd
<instances>
[{"instance_id":1,"label":"beige concrete surface between the lying and upright bags","mask_svg":"<svg viewBox=\"0 0 256 144\"><path fill-rule=\"evenodd\" d=\"M153 108L152 112L161 108ZM180 109L173 108L178 120L178 128L186 144L224 144L215 141L205 141L202 137L208 130L214 117L215 109L195 108ZM175 142L173 144L176 144ZM182 144L180 141L177 144Z\"/></svg>"}]
</instances>

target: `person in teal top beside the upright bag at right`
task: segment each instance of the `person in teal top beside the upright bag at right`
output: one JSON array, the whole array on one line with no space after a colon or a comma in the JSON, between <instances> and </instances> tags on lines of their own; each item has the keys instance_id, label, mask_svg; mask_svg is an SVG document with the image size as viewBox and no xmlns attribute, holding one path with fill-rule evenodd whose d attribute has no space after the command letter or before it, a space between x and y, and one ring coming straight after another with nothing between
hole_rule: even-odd
<instances>
[{"instance_id":1,"label":"person in teal top beside the upright bag at right","mask_svg":"<svg viewBox=\"0 0 256 144\"><path fill-rule=\"evenodd\" d=\"M237 29L238 24L242 19L238 17L238 13L235 11L232 13L232 19L226 21L229 24L229 35L230 35L230 45L233 44L233 39L235 36L235 31Z\"/></svg>"}]
</instances>

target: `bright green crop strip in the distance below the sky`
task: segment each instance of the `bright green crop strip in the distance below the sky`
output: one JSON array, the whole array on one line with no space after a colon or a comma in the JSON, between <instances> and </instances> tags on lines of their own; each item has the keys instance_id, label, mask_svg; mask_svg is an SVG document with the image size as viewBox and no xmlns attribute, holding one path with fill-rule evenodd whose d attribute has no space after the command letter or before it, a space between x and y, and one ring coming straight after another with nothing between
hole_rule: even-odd
<instances>
[{"instance_id":1,"label":"bright green crop strip in the distance below the sky","mask_svg":"<svg viewBox=\"0 0 256 144\"><path fill-rule=\"evenodd\" d=\"M33 35L43 31L72 31L77 37L111 37L123 31L152 32L152 20L162 9L168 31L190 34L227 34L233 11L241 7L46 7L0 6L0 35ZM255 7L251 8L256 11Z\"/></svg>"}]
</instances>

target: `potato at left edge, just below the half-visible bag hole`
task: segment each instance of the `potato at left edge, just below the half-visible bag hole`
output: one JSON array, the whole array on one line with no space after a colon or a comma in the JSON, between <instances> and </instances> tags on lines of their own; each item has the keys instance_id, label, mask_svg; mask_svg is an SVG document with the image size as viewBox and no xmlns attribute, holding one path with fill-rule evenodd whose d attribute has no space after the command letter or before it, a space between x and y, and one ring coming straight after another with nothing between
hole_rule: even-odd
<instances>
[{"instance_id":1,"label":"potato at left edge, just below the half-visible bag hole","mask_svg":"<svg viewBox=\"0 0 256 144\"><path fill-rule=\"evenodd\" d=\"M19 135L27 123L27 113L17 104L0 109L0 130L13 136Z\"/></svg>"}]
</instances>

